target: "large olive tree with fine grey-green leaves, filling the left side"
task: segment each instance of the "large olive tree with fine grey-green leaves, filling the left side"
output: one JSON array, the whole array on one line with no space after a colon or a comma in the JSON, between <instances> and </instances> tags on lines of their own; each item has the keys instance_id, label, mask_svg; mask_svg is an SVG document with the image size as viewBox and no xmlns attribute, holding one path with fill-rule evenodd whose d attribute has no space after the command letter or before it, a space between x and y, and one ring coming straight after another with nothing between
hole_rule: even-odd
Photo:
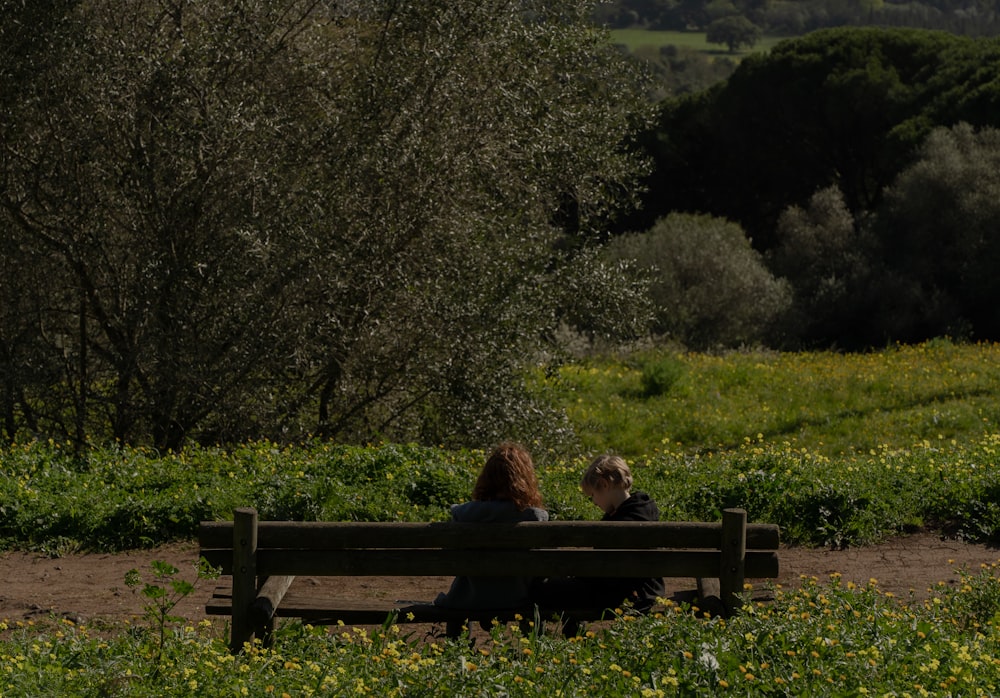
<instances>
[{"instance_id":1,"label":"large olive tree with fine grey-green leaves, filling the left side","mask_svg":"<svg viewBox=\"0 0 1000 698\"><path fill-rule=\"evenodd\" d=\"M540 342L634 296L584 281L651 109L590 9L67 9L0 144L0 235L43 280L29 329L62 369L27 386L53 415L36 428L166 447L538 428Z\"/></svg>"}]
</instances>

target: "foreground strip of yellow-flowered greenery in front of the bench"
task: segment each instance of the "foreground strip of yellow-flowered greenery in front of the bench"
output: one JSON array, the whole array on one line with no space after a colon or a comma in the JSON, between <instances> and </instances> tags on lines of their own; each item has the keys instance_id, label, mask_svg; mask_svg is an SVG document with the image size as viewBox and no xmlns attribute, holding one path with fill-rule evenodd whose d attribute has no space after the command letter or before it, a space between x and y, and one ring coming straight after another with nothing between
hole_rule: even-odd
<instances>
[{"instance_id":1,"label":"foreground strip of yellow-flowered greenery in front of the bench","mask_svg":"<svg viewBox=\"0 0 1000 698\"><path fill-rule=\"evenodd\" d=\"M13 695L994 695L1000 689L996 567L957 570L924 602L833 574L728 620L668 603L566 640L496 626L428 641L400 626L278 628L273 647L229 654L210 623L178 628L162 657L134 633L68 622L0 625ZM162 667L156 673L155 666Z\"/></svg>"}]
</instances>

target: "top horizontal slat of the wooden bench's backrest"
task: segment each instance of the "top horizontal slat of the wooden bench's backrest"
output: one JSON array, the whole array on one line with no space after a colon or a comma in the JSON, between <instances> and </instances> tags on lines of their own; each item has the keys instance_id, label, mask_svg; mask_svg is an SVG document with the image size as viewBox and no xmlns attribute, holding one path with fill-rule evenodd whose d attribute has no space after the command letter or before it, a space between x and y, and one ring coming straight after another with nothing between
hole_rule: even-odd
<instances>
[{"instance_id":1,"label":"top horizontal slat of the wooden bench's backrest","mask_svg":"<svg viewBox=\"0 0 1000 698\"><path fill-rule=\"evenodd\" d=\"M716 548L718 522L691 521L524 521L519 523L260 521L257 546L266 548ZM233 544L231 521L206 521L199 527L203 548ZM748 550L776 550L773 524L748 524Z\"/></svg>"}]
</instances>

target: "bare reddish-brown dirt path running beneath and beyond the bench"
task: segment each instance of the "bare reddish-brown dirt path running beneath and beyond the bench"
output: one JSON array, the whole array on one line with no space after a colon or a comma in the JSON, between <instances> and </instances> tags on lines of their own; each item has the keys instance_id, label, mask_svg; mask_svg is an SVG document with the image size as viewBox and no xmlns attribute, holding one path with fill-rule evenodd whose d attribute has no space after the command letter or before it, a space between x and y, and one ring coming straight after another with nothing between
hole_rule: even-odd
<instances>
[{"instance_id":1,"label":"bare reddish-brown dirt path running beneath and beyond the bench","mask_svg":"<svg viewBox=\"0 0 1000 698\"><path fill-rule=\"evenodd\" d=\"M16 621L63 617L78 623L135 619L142 615L146 599L138 589L125 584L125 575L138 569L143 579L153 581L150 563L169 562L180 569L179 577L193 581L197 545L179 543L150 550L118 554L74 554L59 558L35 553L0 553L0 620ZM891 539L875 546L846 550L785 547L779 553L781 576L777 583L794 588L801 578L827 579L840 573L843 580L859 584L871 578L896 596L925 598L939 582L954 585L958 570L977 571L981 565L1000 561L1000 550L944 539L933 533L918 533ZM668 579L668 594L683 597L693 593L695 580ZM329 590L331 596L354 599L431 600L448 588L448 578L396 578L320 580L300 578L296 585ZM183 599L174 613L192 622L205 617L205 603L216 582L204 581Z\"/></svg>"}]
</instances>

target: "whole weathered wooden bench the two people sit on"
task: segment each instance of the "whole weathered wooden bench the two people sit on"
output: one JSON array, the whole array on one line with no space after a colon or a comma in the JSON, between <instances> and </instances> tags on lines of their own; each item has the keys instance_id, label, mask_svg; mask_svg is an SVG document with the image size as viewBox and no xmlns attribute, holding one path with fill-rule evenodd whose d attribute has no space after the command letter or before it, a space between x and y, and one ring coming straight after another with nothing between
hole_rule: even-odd
<instances>
[{"instance_id":1,"label":"whole weathered wooden bench the two people sit on","mask_svg":"<svg viewBox=\"0 0 1000 698\"><path fill-rule=\"evenodd\" d=\"M231 649L253 636L269 642L275 619L314 625L509 621L559 613L599 620L607 609L443 608L426 602L344 602L289 592L295 576L579 576L718 579L725 613L738 610L745 578L778 576L778 527L747 524L742 509L721 522L549 521L357 523L258 521L237 509L234 521L205 521L201 555L232 584L216 589L209 615L232 616ZM450 579L449 579L450 582ZM446 591L445 586L442 591Z\"/></svg>"}]
</instances>

